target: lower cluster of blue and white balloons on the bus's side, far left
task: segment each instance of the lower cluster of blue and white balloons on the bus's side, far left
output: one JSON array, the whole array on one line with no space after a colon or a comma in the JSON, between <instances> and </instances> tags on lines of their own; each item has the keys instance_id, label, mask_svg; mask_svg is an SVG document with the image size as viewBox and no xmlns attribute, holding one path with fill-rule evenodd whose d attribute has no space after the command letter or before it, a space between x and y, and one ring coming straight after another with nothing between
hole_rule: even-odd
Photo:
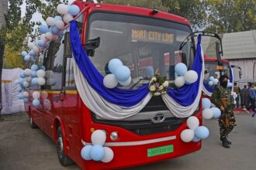
<instances>
[{"instance_id":1,"label":"lower cluster of blue and white balloons on the bus's side, far left","mask_svg":"<svg viewBox=\"0 0 256 170\"><path fill-rule=\"evenodd\" d=\"M45 66L37 66L33 64L30 69L24 70L19 74L19 80L16 80L16 83L19 84L19 99L23 99L24 102L29 101L29 92L25 91L29 86L43 86L46 81L44 79L45 76ZM23 92L24 91L24 92ZM40 93L33 93L33 106L37 107L40 105Z\"/></svg>"}]
</instances>

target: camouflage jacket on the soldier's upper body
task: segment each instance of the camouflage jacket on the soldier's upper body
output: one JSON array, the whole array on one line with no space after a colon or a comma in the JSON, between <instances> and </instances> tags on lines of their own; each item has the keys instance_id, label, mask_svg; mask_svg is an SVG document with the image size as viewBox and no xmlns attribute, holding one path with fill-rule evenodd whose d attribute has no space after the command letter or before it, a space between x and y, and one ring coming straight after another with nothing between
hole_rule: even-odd
<instances>
[{"instance_id":1,"label":"camouflage jacket on the soldier's upper body","mask_svg":"<svg viewBox=\"0 0 256 170\"><path fill-rule=\"evenodd\" d=\"M225 107L223 102L220 99L226 99L226 108L233 108L234 98L231 96L230 90L226 87L216 87L214 90L211 102L216 105L216 107Z\"/></svg>"}]
</instances>

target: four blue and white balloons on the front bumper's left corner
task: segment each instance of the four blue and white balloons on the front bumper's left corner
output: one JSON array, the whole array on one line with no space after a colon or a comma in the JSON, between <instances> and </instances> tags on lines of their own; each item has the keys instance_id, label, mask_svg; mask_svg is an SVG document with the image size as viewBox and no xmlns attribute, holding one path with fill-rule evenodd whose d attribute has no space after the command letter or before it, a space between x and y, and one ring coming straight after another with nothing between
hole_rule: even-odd
<instances>
[{"instance_id":1,"label":"four blue and white balloons on the front bumper's left corner","mask_svg":"<svg viewBox=\"0 0 256 170\"><path fill-rule=\"evenodd\" d=\"M81 157L86 161L111 162L114 157L112 149L103 147L106 141L106 132L102 130L94 131L91 140L92 145L85 145L85 147L81 149Z\"/></svg>"}]
</instances>

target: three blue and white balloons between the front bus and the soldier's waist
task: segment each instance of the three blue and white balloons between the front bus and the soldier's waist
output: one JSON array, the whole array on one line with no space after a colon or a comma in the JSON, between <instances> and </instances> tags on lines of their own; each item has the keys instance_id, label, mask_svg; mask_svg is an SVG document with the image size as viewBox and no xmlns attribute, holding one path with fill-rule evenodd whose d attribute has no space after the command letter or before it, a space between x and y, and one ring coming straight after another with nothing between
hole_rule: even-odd
<instances>
[{"instance_id":1,"label":"three blue and white balloons between the front bus and the soldier's waist","mask_svg":"<svg viewBox=\"0 0 256 170\"><path fill-rule=\"evenodd\" d=\"M218 107L211 107L212 103L209 99L203 98L202 99L202 117L206 120L212 118L219 118L221 111Z\"/></svg>"}]
</instances>

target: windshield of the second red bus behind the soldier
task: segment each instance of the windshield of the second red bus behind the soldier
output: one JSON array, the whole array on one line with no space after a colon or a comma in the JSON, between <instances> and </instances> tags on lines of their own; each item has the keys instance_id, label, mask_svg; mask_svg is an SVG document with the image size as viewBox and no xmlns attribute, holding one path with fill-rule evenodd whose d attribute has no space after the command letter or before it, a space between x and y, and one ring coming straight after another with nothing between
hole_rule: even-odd
<instances>
[{"instance_id":1,"label":"windshield of the second red bus behind the soldier","mask_svg":"<svg viewBox=\"0 0 256 170\"><path fill-rule=\"evenodd\" d=\"M205 61L205 76L204 80L209 81L209 77L220 78L220 70L217 69L218 63L214 61ZM223 63L223 73L230 77L229 63Z\"/></svg>"}]
</instances>

